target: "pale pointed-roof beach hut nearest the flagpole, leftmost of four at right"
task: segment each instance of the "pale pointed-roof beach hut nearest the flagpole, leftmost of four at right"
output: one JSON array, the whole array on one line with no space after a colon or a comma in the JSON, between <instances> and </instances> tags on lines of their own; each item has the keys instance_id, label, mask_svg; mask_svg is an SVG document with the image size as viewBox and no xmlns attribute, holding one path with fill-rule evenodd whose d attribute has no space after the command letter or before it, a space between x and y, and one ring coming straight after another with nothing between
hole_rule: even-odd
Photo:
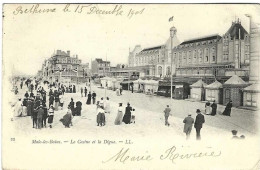
<instances>
[{"instance_id":1,"label":"pale pointed-roof beach hut nearest the flagpole, leftmost of four at right","mask_svg":"<svg viewBox=\"0 0 260 170\"><path fill-rule=\"evenodd\" d=\"M205 86L206 83L202 81L202 79L198 80L196 83L192 84L191 87L191 99L204 101L205 100Z\"/></svg>"}]
</instances>

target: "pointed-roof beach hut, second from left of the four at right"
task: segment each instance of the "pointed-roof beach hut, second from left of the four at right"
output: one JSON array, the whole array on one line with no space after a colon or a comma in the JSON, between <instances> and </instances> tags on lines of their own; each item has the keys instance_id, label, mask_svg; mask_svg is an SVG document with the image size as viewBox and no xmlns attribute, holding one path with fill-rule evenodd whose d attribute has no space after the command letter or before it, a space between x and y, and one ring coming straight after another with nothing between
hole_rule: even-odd
<instances>
[{"instance_id":1,"label":"pointed-roof beach hut, second from left of the four at right","mask_svg":"<svg viewBox=\"0 0 260 170\"><path fill-rule=\"evenodd\" d=\"M215 81L205 87L206 100L223 104L223 86L219 81Z\"/></svg>"}]
</instances>

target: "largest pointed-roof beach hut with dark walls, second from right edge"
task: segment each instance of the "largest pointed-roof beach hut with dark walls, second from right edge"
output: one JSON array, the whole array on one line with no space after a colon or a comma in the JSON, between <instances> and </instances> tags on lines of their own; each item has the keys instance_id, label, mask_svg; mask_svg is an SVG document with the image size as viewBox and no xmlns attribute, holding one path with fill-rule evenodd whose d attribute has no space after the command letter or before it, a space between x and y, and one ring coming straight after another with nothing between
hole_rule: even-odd
<instances>
[{"instance_id":1,"label":"largest pointed-roof beach hut with dark walls, second from right edge","mask_svg":"<svg viewBox=\"0 0 260 170\"><path fill-rule=\"evenodd\" d=\"M232 100L233 106L243 105L243 92L242 90L248 86L244 80L237 75L233 75L223 84L223 104L226 105Z\"/></svg>"}]
</instances>

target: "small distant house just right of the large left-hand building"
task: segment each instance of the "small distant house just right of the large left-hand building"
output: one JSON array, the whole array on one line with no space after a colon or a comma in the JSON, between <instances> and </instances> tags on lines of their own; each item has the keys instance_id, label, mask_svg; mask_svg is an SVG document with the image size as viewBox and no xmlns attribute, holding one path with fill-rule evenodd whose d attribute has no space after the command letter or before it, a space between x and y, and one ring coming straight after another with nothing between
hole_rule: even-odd
<instances>
[{"instance_id":1,"label":"small distant house just right of the large left-hand building","mask_svg":"<svg viewBox=\"0 0 260 170\"><path fill-rule=\"evenodd\" d=\"M104 61L101 58L96 58L91 62L91 72L93 75L106 76L110 71L110 61Z\"/></svg>"}]
</instances>

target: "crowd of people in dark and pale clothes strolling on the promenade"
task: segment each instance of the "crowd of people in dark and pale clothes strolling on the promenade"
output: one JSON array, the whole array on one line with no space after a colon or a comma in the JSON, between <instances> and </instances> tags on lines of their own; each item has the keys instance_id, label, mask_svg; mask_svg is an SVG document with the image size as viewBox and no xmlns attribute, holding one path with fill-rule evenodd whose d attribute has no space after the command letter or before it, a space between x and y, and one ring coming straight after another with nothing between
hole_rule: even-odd
<instances>
[{"instance_id":1,"label":"crowd of people in dark and pale clothes strolling on the promenade","mask_svg":"<svg viewBox=\"0 0 260 170\"><path fill-rule=\"evenodd\" d=\"M23 89L23 81L20 83L20 88ZM76 93L76 86L69 85L66 86L59 82L43 84L37 83L32 84L30 81L26 81L26 93L24 98L18 99L14 109L14 116L31 116L33 128L41 129L50 127L52 128L54 113L55 111L63 110L64 107L64 94L65 93ZM46 86L47 84L47 86ZM47 88L46 88L47 87ZM48 91L48 94L47 94ZM106 115L111 113L110 108L110 98L101 97L100 100L96 101L97 94L95 91L88 90L87 87L80 88L81 97L86 97L86 105L96 105L96 122L97 126L106 125ZM122 88L116 90L117 95L122 94ZM48 96L48 101L47 101ZM48 105L47 105L48 103ZM222 115L230 116L232 108L232 101L230 101L222 113ZM70 102L67 105L66 114L60 119L60 122L65 126L65 128L70 128L72 126L72 120L74 116L81 116L82 102L74 102L71 98ZM169 105L163 111L165 117L165 126L170 126L168 121L171 114L171 108ZM202 125L205 123L205 118L200 109L196 110L197 116L194 118L191 117L191 114L188 114L184 118L184 129L183 132L186 134L186 139L190 138L192 127L196 129L196 139L201 139L200 131ZM215 101L212 103L206 102L205 104L205 115L215 116L217 114L217 104ZM127 103L125 109L123 108L123 103L119 103L117 108L117 114L115 116L114 124L121 125L135 123L135 109L132 108L130 103ZM48 124L48 126L47 126ZM233 134L237 133L232 131ZM235 136L235 135L234 135ZM243 136L242 136L243 137ZM235 138L235 137L234 137Z\"/></svg>"}]
</instances>

